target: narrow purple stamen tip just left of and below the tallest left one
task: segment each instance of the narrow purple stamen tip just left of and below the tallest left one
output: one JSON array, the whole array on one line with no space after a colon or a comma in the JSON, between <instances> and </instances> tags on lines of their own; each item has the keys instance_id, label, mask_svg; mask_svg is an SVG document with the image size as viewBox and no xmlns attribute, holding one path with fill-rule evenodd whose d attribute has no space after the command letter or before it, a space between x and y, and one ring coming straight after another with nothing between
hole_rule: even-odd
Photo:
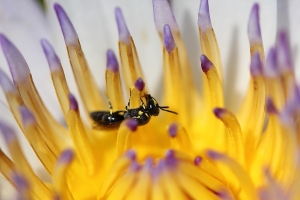
<instances>
[{"instance_id":1,"label":"narrow purple stamen tip just left of and below the tallest left one","mask_svg":"<svg viewBox=\"0 0 300 200\"><path fill-rule=\"evenodd\" d=\"M46 55L50 71L51 72L62 71L60 60L59 60L58 56L56 55L51 44L47 40L42 39L41 45L42 45L44 53Z\"/></svg>"}]
</instances>

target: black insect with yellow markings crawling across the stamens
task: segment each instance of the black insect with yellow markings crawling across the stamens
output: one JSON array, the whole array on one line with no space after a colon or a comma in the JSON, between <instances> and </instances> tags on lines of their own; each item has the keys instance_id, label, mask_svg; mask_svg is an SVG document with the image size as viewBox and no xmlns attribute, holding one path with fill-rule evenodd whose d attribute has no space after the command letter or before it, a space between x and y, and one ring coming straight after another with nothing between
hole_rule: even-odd
<instances>
[{"instance_id":1,"label":"black insect with yellow markings crawling across the stamens","mask_svg":"<svg viewBox=\"0 0 300 200\"><path fill-rule=\"evenodd\" d=\"M130 91L130 98L131 98L131 91ZM141 106L138 108L130 109L130 98L128 101L127 106L125 107L126 110L119 110L116 112L112 112L112 105L109 102L110 111L95 111L90 113L90 117L95 122L94 128L96 129L115 129L118 128L121 122L124 119L135 119L137 120L139 126L147 124L151 116L158 116L159 111L163 110L166 112L170 112L176 114L176 112L167 110L168 106L160 106L157 101L150 95L147 94L146 104L141 100Z\"/></svg>"}]
</instances>

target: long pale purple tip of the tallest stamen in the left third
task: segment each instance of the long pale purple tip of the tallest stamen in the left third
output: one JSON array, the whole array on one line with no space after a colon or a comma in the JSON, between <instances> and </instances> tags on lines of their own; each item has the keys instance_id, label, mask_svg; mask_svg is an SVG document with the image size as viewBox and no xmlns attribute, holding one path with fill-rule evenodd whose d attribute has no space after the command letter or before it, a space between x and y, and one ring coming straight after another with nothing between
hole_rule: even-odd
<instances>
[{"instance_id":1,"label":"long pale purple tip of the tallest stamen in the left third","mask_svg":"<svg viewBox=\"0 0 300 200\"><path fill-rule=\"evenodd\" d=\"M61 31L63 32L66 45L77 46L78 36L67 13L57 3L54 4L54 9L61 27Z\"/></svg>"}]
</instances>

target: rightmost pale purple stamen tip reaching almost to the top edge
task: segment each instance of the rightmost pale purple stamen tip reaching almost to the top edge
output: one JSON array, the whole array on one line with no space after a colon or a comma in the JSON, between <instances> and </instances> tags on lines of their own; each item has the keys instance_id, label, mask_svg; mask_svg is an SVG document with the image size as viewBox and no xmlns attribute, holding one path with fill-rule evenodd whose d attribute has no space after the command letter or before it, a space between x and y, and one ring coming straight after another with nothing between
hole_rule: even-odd
<instances>
[{"instance_id":1,"label":"rightmost pale purple stamen tip reaching almost to the top edge","mask_svg":"<svg viewBox=\"0 0 300 200\"><path fill-rule=\"evenodd\" d=\"M259 25L259 6L254 4L251 10L249 22L248 22L248 37L250 44L261 44L261 31Z\"/></svg>"}]
</instances>

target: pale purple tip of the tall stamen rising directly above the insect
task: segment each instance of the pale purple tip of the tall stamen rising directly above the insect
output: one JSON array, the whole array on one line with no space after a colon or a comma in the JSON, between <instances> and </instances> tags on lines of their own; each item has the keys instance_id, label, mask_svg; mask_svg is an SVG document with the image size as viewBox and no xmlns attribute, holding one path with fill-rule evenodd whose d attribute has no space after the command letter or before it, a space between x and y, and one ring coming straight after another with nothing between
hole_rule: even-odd
<instances>
[{"instance_id":1,"label":"pale purple tip of the tall stamen rising directly above the insect","mask_svg":"<svg viewBox=\"0 0 300 200\"><path fill-rule=\"evenodd\" d=\"M130 44L130 33L120 8L115 9L115 16L119 32L119 40L125 44Z\"/></svg>"}]
</instances>

